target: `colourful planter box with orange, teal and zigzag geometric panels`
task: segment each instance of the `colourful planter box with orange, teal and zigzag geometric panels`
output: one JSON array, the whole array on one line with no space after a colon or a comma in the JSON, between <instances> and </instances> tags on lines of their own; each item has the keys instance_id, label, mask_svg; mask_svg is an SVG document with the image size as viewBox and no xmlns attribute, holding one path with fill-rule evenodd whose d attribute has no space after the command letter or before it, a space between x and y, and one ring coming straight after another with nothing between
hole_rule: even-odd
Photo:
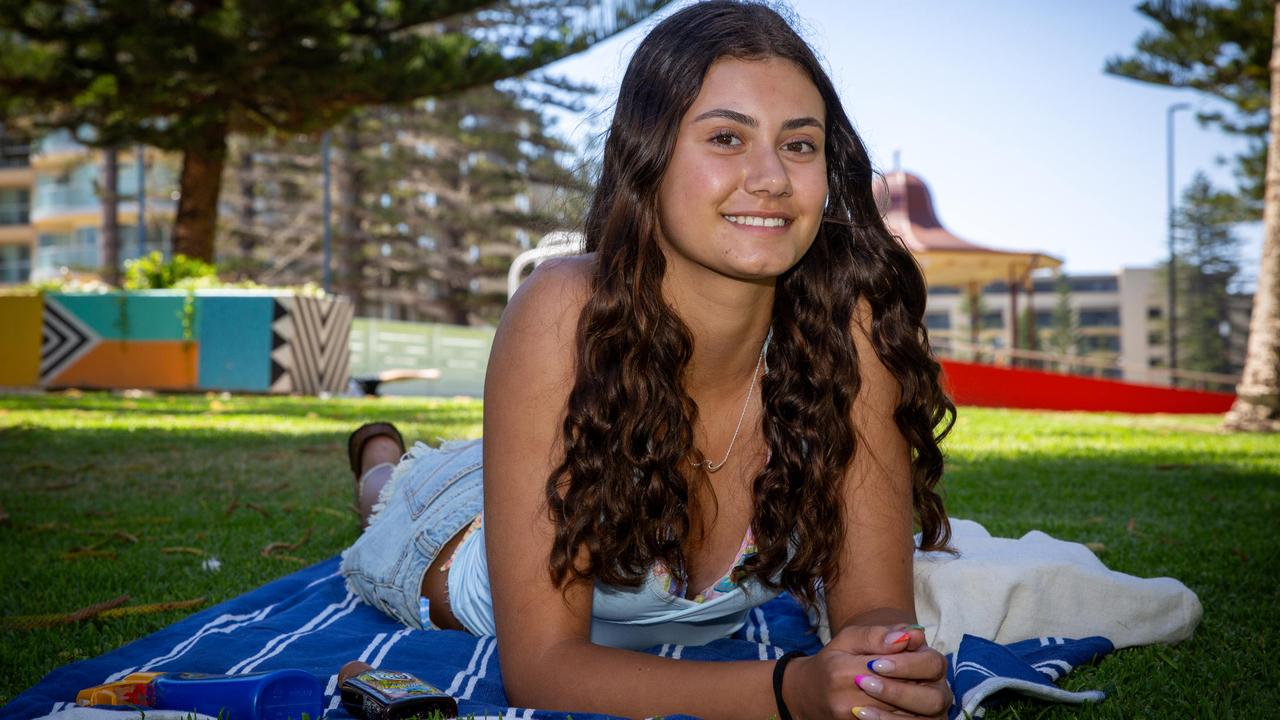
<instances>
[{"instance_id":1,"label":"colourful planter box with orange, teal and zigzag geometric panels","mask_svg":"<svg viewBox=\"0 0 1280 720\"><path fill-rule=\"evenodd\" d=\"M284 292L0 296L0 386L343 392L351 319Z\"/></svg>"}]
</instances>

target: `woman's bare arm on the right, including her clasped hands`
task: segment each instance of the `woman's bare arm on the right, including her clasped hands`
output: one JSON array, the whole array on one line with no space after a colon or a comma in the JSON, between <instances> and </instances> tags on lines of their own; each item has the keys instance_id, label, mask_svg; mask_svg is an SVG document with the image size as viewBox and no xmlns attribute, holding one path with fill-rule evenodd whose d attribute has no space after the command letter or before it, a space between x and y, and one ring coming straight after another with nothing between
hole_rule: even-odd
<instances>
[{"instance_id":1,"label":"woman's bare arm on the right, including her clasped hands","mask_svg":"<svg viewBox=\"0 0 1280 720\"><path fill-rule=\"evenodd\" d=\"M783 692L788 706L818 715L847 716L852 703L878 717L895 710L945 716L951 705L946 661L924 646L922 630L902 632L915 623L911 451L893 421L901 388L872 347L870 320L870 307L859 302L852 327L861 378L852 409L858 450L845 479L840 577L826 584L832 639L823 652L795 661ZM872 673L867 656L888 660L892 669Z\"/></svg>"}]
</instances>

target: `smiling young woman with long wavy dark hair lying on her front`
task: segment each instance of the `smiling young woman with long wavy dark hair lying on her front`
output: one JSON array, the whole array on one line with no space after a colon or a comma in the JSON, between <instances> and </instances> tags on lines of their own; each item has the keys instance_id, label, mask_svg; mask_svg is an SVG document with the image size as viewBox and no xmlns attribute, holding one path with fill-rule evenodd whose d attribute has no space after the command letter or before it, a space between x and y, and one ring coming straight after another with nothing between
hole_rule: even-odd
<instances>
[{"instance_id":1,"label":"smiling young woman with long wavy dark hair lying on her front","mask_svg":"<svg viewBox=\"0 0 1280 720\"><path fill-rule=\"evenodd\" d=\"M353 591L412 626L497 634L517 706L945 716L911 553L913 519L923 548L947 543L933 488L955 409L872 179L778 14L719 0L662 22L622 81L586 254L503 315L483 446L352 436L372 514L344 553ZM822 652L636 652L727 637L781 591L826 605Z\"/></svg>"}]
</instances>

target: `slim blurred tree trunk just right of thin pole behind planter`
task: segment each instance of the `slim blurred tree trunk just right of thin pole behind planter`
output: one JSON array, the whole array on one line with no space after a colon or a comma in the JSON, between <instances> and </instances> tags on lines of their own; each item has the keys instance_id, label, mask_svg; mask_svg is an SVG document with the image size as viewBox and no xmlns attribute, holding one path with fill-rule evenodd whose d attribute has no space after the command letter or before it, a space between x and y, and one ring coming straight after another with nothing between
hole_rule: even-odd
<instances>
[{"instance_id":1,"label":"slim blurred tree trunk just right of thin pole behind planter","mask_svg":"<svg viewBox=\"0 0 1280 720\"><path fill-rule=\"evenodd\" d=\"M360 158L360 113L342 123L337 155L338 186L338 292L351 300L356 316L367 310L364 292L365 238L360 232L360 199L365 193L365 168ZM324 222L324 218L321 218ZM332 222L332 220L330 220Z\"/></svg>"}]
</instances>

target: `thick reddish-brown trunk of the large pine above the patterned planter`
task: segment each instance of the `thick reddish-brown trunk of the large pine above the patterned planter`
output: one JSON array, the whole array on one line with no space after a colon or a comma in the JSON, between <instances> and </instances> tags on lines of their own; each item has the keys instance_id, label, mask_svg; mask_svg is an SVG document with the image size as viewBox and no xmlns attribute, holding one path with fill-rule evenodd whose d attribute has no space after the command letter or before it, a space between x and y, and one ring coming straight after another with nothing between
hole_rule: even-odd
<instances>
[{"instance_id":1,"label":"thick reddish-brown trunk of the large pine above the patterned planter","mask_svg":"<svg viewBox=\"0 0 1280 720\"><path fill-rule=\"evenodd\" d=\"M173 223L173 251L206 263L214 261L218 196L227 163L227 126L209 127L200 142L182 154L178 217Z\"/></svg>"}]
</instances>

